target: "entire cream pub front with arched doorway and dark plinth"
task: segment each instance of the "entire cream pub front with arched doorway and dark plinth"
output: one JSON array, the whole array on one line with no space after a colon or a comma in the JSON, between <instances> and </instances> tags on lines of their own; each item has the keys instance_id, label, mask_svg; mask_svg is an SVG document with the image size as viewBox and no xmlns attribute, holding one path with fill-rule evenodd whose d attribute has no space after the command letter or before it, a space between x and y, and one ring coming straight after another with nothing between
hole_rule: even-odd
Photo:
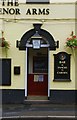
<instances>
[{"instance_id":1,"label":"entire cream pub front with arched doorway and dark plinth","mask_svg":"<svg viewBox=\"0 0 77 120\"><path fill-rule=\"evenodd\" d=\"M76 102L76 9L74 0L0 3L3 103Z\"/></svg>"}]
</instances>

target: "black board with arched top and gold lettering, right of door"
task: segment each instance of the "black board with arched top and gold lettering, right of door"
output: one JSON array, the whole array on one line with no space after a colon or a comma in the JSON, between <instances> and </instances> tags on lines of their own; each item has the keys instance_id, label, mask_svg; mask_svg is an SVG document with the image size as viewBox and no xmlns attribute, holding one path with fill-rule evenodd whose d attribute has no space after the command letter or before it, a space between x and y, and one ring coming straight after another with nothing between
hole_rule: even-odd
<instances>
[{"instance_id":1,"label":"black board with arched top and gold lettering, right of door","mask_svg":"<svg viewBox=\"0 0 77 120\"><path fill-rule=\"evenodd\" d=\"M70 81L70 54L54 54L54 81Z\"/></svg>"}]
</instances>

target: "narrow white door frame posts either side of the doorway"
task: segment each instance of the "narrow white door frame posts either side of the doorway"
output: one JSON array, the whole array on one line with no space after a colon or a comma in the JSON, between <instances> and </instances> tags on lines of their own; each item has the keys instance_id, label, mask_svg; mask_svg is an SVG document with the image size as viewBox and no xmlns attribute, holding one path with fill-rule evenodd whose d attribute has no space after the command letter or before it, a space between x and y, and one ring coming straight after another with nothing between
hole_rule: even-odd
<instances>
[{"instance_id":1,"label":"narrow white door frame posts either side of the doorway","mask_svg":"<svg viewBox=\"0 0 77 120\"><path fill-rule=\"evenodd\" d=\"M29 47L26 47L26 58L25 58L25 97L28 96L28 50L29 50L30 46ZM47 46L43 46L43 48L48 48L48 98L50 97L50 71L49 71L49 47Z\"/></svg>"}]
</instances>

